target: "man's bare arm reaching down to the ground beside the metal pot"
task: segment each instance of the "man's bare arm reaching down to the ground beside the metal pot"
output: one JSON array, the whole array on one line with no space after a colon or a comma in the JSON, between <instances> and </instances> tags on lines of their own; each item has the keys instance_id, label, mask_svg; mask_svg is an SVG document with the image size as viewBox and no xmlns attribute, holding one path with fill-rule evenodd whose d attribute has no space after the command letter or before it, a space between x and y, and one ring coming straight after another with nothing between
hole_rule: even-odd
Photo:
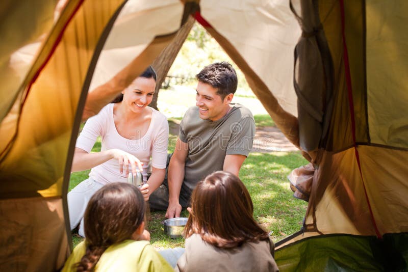
<instances>
[{"instance_id":1,"label":"man's bare arm reaching down to the ground beside the metal pot","mask_svg":"<svg viewBox=\"0 0 408 272\"><path fill-rule=\"evenodd\" d=\"M182 211L179 197L184 180L184 167L186 165L187 154L188 143L184 143L177 138L168 171L169 206L167 208L166 218L180 217L180 212Z\"/></svg>"}]
</instances>

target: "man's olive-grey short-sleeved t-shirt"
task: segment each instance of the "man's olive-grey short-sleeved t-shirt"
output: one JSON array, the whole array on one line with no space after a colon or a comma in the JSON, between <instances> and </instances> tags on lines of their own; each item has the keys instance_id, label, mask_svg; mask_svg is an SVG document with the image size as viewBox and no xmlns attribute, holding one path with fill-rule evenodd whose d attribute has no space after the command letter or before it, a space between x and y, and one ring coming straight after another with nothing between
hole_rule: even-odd
<instances>
[{"instance_id":1,"label":"man's olive-grey short-sleeved t-shirt","mask_svg":"<svg viewBox=\"0 0 408 272\"><path fill-rule=\"evenodd\" d=\"M248 108L231 104L219 120L203 120L197 106L190 107L180 124L179 138L188 143L183 188L192 192L198 181L222 170L226 155L248 156L255 134L255 121Z\"/></svg>"}]
</instances>

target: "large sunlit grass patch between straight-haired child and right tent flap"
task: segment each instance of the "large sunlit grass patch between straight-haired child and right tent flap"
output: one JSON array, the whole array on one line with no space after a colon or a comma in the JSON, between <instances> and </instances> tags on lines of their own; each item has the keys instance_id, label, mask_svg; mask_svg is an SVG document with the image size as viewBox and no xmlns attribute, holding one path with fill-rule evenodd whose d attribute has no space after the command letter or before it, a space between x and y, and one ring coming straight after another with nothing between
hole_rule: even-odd
<instances>
[{"instance_id":1,"label":"large sunlit grass patch between straight-haired child and right tent flap","mask_svg":"<svg viewBox=\"0 0 408 272\"><path fill-rule=\"evenodd\" d=\"M250 153L240 178L251 195L254 218L278 241L302 226L307 203L293 197L287 179L292 169L306 164L300 152Z\"/></svg>"}]
</instances>

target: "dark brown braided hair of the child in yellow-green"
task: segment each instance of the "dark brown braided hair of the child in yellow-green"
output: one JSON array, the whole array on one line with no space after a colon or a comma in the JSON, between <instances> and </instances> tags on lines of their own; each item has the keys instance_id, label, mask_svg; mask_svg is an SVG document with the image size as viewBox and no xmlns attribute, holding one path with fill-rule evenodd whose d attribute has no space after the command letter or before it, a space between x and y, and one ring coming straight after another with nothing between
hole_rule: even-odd
<instances>
[{"instance_id":1,"label":"dark brown braided hair of the child in yellow-green","mask_svg":"<svg viewBox=\"0 0 408 272\"><path fill-rule=\"evenodd\" d=\"M144 214L145 202L136 186L115 182L100 188L85 211L86 254L74 264L77 271L93 271L109 246L132 237Z\"/></svg>"}]
</instances>

